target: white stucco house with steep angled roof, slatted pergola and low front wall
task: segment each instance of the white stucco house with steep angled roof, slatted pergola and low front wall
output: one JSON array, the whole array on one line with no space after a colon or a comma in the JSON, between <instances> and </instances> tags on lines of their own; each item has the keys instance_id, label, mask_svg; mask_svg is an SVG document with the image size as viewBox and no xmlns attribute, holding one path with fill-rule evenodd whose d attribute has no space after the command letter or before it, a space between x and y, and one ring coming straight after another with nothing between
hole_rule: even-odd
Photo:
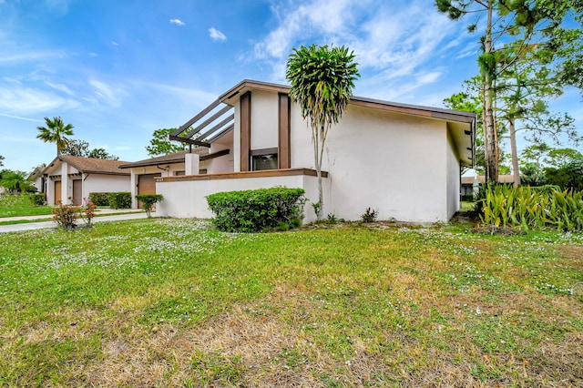
<instances>
[{"instance_id":1,"label":"white stucco house with steep angled roof, slatted pergola and low front wall","mask_svg":"<svg viewBox=\"0 0 583 388\"><path fill-rule=\"evenodd\" d=\"M244 80L177 129L170 139L210 148L189 156L184 176L156 179L157 213L212 216L206 196L235 189L302 188L318 200L312 130L289 87ZM193 128L182 136L180 132ZM360 220L447 221L460 209L460 175L472 167L476 116L437 107L352 97L326 141L323 214ZM304 222L315 220L311 204Z\"/></svg>"}]
</instances>

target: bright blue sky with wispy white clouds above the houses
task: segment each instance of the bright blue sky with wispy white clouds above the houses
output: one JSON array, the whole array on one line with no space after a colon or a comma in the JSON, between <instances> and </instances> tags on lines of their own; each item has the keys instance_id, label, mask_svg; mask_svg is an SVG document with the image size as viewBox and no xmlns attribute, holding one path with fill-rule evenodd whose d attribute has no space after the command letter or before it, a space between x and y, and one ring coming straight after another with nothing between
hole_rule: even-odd
<instances>
[{"instance_id":1,"label":"bright blue sky with wispy white clouds above the houses","mask_svg":"<svg viewBox=\"0 0 583 388\"><path fill-rule=\"evenodd\" d=\"M354 50L357 96L442 107L477 71L465 25L431 0L0 0L0 155L49 163L36 127L60 116L92 148L148 158L155 129L244 78L286 83L292 48L312 43ZM578 90L553 107L583 135Z\"/></svg>"}]
</instances>

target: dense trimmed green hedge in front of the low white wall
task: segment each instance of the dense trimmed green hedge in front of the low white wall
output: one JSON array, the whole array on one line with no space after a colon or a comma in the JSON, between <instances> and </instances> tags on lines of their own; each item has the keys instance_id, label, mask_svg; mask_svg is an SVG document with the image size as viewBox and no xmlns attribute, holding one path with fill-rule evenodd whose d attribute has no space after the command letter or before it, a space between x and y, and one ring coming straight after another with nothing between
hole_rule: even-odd
<instances>
[{"instance_id":1,"label":"dense trimmed green hedge in front of the low white wall","mask_svg":"<svg viewBox=\"0 0 583 388\"><path fill-rule=\"evenodd\" d=\"M226 191L211 194L207 201L219 230L254 232L296 225L306 201L304 192L288 188Z\"/></svg>"}]
</instances>

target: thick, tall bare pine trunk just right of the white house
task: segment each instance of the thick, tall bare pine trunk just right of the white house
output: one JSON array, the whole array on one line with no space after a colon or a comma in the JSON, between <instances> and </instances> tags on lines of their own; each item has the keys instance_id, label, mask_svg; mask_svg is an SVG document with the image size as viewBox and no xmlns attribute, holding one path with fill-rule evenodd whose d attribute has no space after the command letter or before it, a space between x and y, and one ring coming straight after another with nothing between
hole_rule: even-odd
<instances>
[{"instance_id":1,"label":"thick, tall bare pine trunk just right of the white house","mask_svg":"<svg viewBox=\"0 0 583 388\"><path fill-rule=\"evenodd\" d=\"M494 51L492 47L492 11L493 0L488 0L488 17L486 25L486 36L484 40L484 51L486 55L491 55ZM484 110L486 112L486 138L484 139L484 148L486 149L486 180L488 182L498 181L498 147L496 143L496 121L494 120L494 90L492 84L494 75L486 68L484 75Z\"/></svg>"}]
</instances>

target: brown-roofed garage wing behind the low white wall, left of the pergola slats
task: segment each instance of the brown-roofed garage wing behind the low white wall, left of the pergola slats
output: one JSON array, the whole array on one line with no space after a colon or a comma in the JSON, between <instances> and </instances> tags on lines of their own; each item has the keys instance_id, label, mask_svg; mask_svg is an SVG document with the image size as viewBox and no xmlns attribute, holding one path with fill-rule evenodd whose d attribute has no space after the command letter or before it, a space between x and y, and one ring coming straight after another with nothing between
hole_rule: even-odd
<instances>
[{"instance_id":1,"label":"brown-roofed garage wing behind the low white wall, left of the pergola slats","mask_svg":"<svg viewBox=\"0 0 583 388\"><path fill-rule=\"evenodd\" d=\"M124 163L119 166L131 172L131 198L132 208L138 207L137 194L156 194L156 178L176 177L180 175L206 174L210 172L210 160L229 153L229 150L209 153L208 147L192 148L191 151L175 152L161 157L139 160L132 163ZM186 160L191 154L199 156L199 168L196 171L190 170L192 163Z\"/></svg>"}]
</instances>

